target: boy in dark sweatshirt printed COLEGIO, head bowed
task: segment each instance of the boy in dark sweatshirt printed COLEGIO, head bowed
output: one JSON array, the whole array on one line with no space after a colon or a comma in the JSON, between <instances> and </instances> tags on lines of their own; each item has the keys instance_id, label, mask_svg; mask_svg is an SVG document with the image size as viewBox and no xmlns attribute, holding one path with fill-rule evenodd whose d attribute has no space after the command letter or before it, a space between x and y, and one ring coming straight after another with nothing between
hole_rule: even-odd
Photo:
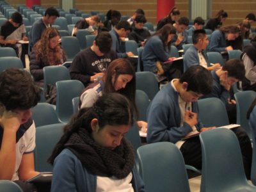
<instances>
[{"instance_id":1,"label":"boy in dark sweatshirt printed COLEGIO, head bowed","mask_svg":"<svg viewBox=\"0 0 256 192\"><path fill-rule=\"evenodd\" d=\"M81 81L86 87L98 77L102 77L109 63L117 58L111 46L111 35L107 31L100 32L92 47L80 51L72 61L69 68L71 79Z\"/></svg>"}]
</instances>

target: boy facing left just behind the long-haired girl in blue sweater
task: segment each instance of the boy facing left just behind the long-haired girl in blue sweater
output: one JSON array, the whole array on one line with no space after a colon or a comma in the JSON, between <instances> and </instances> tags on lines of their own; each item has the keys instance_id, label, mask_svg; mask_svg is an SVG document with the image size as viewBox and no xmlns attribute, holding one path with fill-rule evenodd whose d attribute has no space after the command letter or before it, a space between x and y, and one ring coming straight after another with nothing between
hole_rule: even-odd
<instances>
[{"instance_id":1,"label":"boy facing left just behind the long-haired girl in blue sweater","mask_svg":"<svg viewBox=\"0 0 256 192\"><path fill-rule=\"evenodd\" d=\"M180 17L180 19L173 24L177 33L172 38L172 45L177 47L178 50L183 49L183 44L188 44L188 33L186 29L188 28L189 20L187 17Z\"/></svg>"}]
</instances>

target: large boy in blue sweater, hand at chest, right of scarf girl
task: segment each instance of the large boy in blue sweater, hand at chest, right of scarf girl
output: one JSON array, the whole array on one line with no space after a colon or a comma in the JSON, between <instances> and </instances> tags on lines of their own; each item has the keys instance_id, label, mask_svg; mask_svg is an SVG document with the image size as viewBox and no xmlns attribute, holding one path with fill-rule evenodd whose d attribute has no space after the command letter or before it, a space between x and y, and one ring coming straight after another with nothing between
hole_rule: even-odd
<instances>
[{"instance_id":1,"label":"large boy in blue sweater, hand at chest, right of scarf girl","mask_svg":"<svg viewBox=\"0 0 256 192\"><path fill-rule=\"evenodd\" d=\"M202 168L202 150L199 137L183 141L191 131L207 131L198 118L197 100L211 93L212 76L206 68L195 65L189 67L180 79L166 84L152 100L147 114L147 142L169 141L180 148L186 164ZM214 118L214 117L212 117ZM248 179L252 164L252 145L246 132L241 128L232 129L239 141ZM212 141L214 142L214 141Z\"/></svg>"}]
</instances>

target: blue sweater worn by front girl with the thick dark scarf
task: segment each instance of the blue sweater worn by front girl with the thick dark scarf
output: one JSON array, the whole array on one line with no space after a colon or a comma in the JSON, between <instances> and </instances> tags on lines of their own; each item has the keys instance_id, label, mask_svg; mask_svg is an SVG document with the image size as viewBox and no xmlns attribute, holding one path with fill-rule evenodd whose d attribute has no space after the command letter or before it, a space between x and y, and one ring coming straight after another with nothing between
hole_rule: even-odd
<instances>
[{"instance_id":1,"label":"blue sweater worn by front girl with the thick dark scarf","mask_svg":"<svg viewBox=\"0 0 256 192\"><path fill-rule=\"evenodd\" d=\"M54 160L51 191L93 192L97 176L89 173L81 161L67 148ZM132 187L143 192L144 184L136 168L132 169Z\"/></svg>"}]
</instances>

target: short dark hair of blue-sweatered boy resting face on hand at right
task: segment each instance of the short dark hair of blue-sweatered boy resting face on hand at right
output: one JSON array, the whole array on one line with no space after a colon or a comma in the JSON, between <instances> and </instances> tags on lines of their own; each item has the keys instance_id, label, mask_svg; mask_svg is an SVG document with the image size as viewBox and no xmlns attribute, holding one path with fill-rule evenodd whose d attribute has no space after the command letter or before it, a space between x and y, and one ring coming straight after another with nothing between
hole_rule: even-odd
<instances>
[{"instance_id":1,"label":"short dark hair of blue-sweatered boy resting face on hand at right","mask_svg":"<svg viewBox=\"0 0 256 192\"><path fill-rule=\"evenodd\" d=\"M239 81L244 79L245 68L243 65L243 61L240 61L237 59L227 60L224 63L222 70L225 70L228 72L228 77L234 77Z\"/></svg>"}]
</instances>

